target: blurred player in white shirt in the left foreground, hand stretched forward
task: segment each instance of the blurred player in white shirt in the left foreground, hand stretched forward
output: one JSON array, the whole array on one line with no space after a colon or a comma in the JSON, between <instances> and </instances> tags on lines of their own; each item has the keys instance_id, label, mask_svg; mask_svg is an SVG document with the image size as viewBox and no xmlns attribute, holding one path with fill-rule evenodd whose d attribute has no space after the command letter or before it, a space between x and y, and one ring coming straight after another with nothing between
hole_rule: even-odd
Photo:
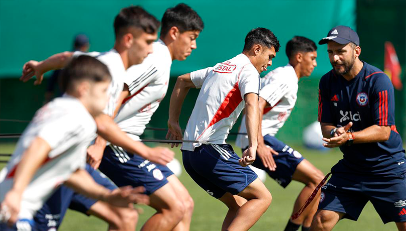
<instances>
[{"instance_id":1,"label":"blurred player in white shirt in the left foreground, hand stretched forward","mask_svg":"<svg viewBox=\"0 0 406 231\"><path fill-rule=\"evenodd\" d=\"M84 170L97 117L108 101L111 76L100 61L80 56L62 73L66 94L40 108L0 172L0 218L12 230L36 230L33 216L55 189L67 186L117 206L147 202L142 188L110 191ZM5 223L0 229L8 230Z\"/></svg>"}]
</instances>

